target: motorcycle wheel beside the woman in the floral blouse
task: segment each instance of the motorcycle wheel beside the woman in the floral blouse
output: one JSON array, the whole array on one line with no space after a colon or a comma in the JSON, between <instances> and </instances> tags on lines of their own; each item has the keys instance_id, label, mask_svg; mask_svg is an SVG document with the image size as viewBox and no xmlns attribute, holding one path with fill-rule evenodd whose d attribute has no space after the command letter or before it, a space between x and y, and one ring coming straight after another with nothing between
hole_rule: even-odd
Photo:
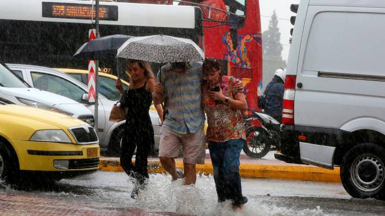
<instances>
[{"instance_id":1,"label":"motorcycle wheel beside the woman in the floral blouse","mask_svg":"<svg viewBox=\"0 0 385 216\"><path fill-rule=\"evenodd\" d=\"M243 151L250 157L261 158L270 150L269 135L262 127L250 127L246 130L246 142Z\"/></svg>"}]
</instances>

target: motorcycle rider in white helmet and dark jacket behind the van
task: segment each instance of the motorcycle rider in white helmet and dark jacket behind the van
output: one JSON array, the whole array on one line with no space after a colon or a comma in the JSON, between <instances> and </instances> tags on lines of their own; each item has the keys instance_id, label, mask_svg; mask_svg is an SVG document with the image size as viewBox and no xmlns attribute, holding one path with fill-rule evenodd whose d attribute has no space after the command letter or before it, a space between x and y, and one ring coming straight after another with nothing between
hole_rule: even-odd
<instances>
[{"instance_id":1,"label":"motorcycle rider in white helmet and dark jacket behind the van","mask_svg":"<svg viewBox=\"0 0 385 216\"><path fill-rule=\"evenodd\" d=\"M274 119L282 122L283 93L285 92L286 69L275 71L273 79L265 88L265 112Z\"/></svg>"}]
</instances>

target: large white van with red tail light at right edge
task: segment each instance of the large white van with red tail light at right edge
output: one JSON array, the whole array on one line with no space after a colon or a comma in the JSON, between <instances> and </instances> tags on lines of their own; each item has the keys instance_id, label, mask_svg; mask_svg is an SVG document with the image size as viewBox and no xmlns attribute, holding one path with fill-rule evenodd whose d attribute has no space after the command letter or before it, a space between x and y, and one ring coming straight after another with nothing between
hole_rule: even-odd
<instances>
[{"instance_id":1,"label":"large white van with red tail light at right edge","mask_svg":"<svg viewBox=\"0 0 385 216\"><path fill-rule=\"evenodd\" d=\"M353 197L385 198L385 1L301 0L277 159L340 166Z\"/></svg>"}]
</instances>

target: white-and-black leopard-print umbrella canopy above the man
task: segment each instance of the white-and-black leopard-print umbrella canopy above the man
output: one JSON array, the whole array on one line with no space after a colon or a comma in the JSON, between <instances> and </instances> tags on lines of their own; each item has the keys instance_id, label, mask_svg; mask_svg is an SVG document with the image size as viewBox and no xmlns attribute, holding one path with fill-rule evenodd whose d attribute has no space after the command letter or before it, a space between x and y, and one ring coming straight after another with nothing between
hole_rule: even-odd
<instances>
[{"instance_id":1,"label":"white-and-black leopard-print umbrella canopy above the man","mask_svg":"<svg viewBox=\"0 0 385 216\"><path fill-rule=\"evenodd\" d=\"M204 51L190 39L163 34L132 37L120 46L116 57L156 63L203 61Z\"/></svg>"}]
</instances>

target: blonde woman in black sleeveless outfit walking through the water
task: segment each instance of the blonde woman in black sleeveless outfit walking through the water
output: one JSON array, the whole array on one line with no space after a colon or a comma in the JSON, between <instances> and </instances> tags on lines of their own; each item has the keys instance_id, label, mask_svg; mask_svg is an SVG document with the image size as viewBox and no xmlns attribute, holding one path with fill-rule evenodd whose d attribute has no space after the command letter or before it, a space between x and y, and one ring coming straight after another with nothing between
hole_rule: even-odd
<instances>
[{"instance_id":1,"label":"blonde woman in black sleeveless outfit walking through the water","mask_svg":"<svg viewBox=\"0 0 385 216\"><path fill-rule=\"evenodd\" d=\"M136 198L149 177L147 157L154 145L154 130L148 110L152 103L151 92L155 90L155 78L150 64L146 61L129 60L128 70L131 74L130 85L120 99L123 107L128 110L121 143L120 164L134 179L131 197ZM116 83L116 86L119 89L119 83ZM132 164L135 147L135 164Z\"/></svg>"}]
</instances>

